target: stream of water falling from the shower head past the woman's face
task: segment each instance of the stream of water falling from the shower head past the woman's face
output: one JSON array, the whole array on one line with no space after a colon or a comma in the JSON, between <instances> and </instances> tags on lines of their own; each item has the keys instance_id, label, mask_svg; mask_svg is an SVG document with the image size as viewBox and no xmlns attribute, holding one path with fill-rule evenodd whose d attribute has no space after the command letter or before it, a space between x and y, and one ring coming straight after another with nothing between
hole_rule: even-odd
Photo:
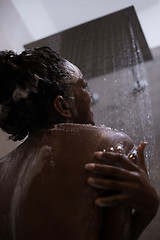
<instances>
[{"instance_id":1,"label":"stream of water falling from the shower head past the woman's face","mask_svg":"<svg viewBox=\"0 0 160 240\"><path fill-rule=\"evenodd\" d=\"M112 30L111 30L112 31ZM121 61L127 61L128 67L118 70L117 49L111 33L111 52L114 71L110 74L96 77L89 81L96 104L93 105L96 124L105 124L127 133L138 145L148 142L146 148L146 165L148 173L154 181L153 161L155 152L155 136L153 131L152 107L147 81L147 72L138 40L129 25L130 38L117 29L117 35L122 34L123 44L119 48ZM118 39L117 39L118 40ZM132 44L132 51L129 44ZM134 64L133 63L134 59ZM99 96L99 99L98 99ZM154 165L158 166L154 160Z\"/></svg>"}]
</instances>

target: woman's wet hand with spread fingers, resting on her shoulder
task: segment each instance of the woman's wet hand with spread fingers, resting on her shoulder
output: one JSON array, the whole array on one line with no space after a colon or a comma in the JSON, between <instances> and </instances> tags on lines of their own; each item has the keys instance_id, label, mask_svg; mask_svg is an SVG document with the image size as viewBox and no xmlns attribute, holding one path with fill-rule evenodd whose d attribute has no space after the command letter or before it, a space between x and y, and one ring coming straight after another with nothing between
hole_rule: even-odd
<instances>
[{"instance_id":1,"label":"woman's wet hand with spread fingers, resting on her shoulder","mask_svg":"<svg viewBox=\"0 0 160 240\"><path fill-rule=\"evenodd\" d=\"M105 151L95 153L95 157L101 160L101 164L89 163L85 166L98 176L88 178L89 185L105 190L118 190L116 195L96 199L96 205L107 207L125 204L135 209L132 224L135 234L133 239L137 239L137 236L153 219L159 206L158 195L150 184L146 171L143 154L145 146L146 143L143 142L137 147L136 164L131 161L130 155ZM116 162L119 166L107 165L105 164L107 160ZM137 219L138 223L135 222Z\"/></svg>"}]
</instances>

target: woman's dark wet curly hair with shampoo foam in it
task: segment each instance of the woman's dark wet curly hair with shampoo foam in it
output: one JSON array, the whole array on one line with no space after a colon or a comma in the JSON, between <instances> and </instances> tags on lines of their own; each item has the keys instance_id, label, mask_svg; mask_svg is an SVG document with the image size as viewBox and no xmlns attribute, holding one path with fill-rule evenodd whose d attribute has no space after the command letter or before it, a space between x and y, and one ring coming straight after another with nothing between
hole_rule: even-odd
<instances>
[{"instance_id":1,"label":"woman's dark wet curly hair with shampoo foam in it","mask_svg":"<svg viewBox=\"0 0 160 240\"><path fill-rule=\"evenodd\" d=\"M72 100L71 76L65 59L49 47L0 52L0 128L22 140L50 121L57 95ZM57 119L52 124L58 123Z\"/></svg>"}]
</instances>

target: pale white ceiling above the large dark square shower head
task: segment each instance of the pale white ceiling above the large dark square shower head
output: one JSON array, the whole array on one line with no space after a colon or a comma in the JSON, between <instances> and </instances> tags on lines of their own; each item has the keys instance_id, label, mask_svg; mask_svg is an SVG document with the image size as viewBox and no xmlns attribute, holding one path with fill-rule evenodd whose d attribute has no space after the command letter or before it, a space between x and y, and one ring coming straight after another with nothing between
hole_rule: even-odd
<instances>
[{"instance_id":1,"label":"pale white ceiling above the large dark square shower head","mask_svg":"<svg viewBox=\"0 0 160 240\"><path fill-rule=\"evenodd\" d=\"M10 0L33 41L134 5L151 47L159 45L160 0ZM151 40L150 40L151 39ZM152 43L153 42L153 43Z\"/></svg>"}]
</instances>

